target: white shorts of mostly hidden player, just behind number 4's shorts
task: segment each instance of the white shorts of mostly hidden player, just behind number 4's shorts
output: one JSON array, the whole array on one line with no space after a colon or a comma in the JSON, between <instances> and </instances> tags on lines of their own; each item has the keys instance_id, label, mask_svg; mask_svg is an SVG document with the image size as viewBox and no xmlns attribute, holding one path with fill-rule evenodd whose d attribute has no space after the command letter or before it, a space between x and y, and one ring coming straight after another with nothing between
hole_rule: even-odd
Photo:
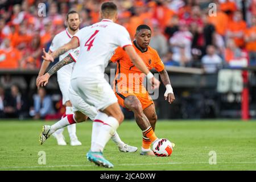
<instances>
[{"instance_id":1,"label":"white shorts of mostly hidden player, just behind number 4's shorts","mask_svg":"<svg viewBox=\"0 0 256 182\"><path fill-rule=\"evenodd\" d=\"M80 111L82 114L87 115L92 121L96 117L98 111L94 106L87 104L82 98L69 87L69 98L73 106L73 112Z\"/></svg>"}]
</instances>

